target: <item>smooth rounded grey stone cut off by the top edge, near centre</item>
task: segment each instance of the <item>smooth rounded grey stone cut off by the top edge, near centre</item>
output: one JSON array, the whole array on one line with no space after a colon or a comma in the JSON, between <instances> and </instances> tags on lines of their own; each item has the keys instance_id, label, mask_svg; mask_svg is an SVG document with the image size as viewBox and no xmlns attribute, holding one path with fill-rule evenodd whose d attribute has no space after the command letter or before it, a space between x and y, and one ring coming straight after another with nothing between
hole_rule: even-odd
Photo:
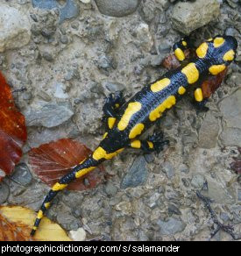
<instances>
[{"instance_id":1,"label":"smooth rounded grey stone cut off by the top edge, near centre","mask_svg":"<svg viewBox=\"0 0 241 256\"><path fill-rule=\"evenodd\" d=\"M95 0L99 11L107 16L124 17L137 10L139 0Z\"/></svg>"}]
</instances>

